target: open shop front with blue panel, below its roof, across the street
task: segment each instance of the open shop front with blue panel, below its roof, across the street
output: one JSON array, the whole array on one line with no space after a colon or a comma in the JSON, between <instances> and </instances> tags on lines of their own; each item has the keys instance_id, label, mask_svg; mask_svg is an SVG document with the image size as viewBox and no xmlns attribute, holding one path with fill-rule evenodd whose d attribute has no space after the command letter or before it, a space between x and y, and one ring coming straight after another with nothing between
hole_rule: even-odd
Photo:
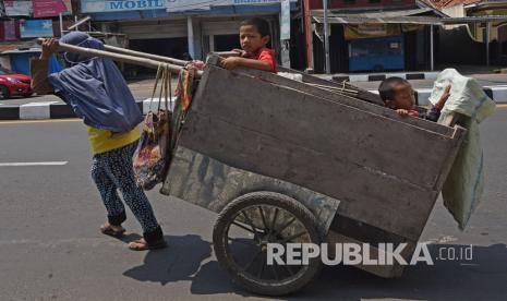
<instances>
[{"instance_id":1,"label":"open shop front with blue panel, below its roof, across the street","mask_svg":"<svg viewBox=\"0 0 507 301\"><path fill-rule=\"evenodd\" d=\"M436 16L382 17L379 13L338 15L330 13L330 72L384 72L432 69L432 31ZM401 15L407 13L407 15ZM313 12L313 69L324 72L322 12Z\"/></svg>"}]
</instances>

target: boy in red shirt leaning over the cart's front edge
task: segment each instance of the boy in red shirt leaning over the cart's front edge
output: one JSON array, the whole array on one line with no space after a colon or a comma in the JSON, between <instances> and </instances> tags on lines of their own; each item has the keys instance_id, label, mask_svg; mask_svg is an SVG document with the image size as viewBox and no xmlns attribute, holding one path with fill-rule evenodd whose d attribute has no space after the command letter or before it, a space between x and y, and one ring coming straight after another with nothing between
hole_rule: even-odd
<instances>
[{"instance_id":1,"label":"boy in red shirt leaning over the cart's front edge","mask_svg":"<svg viewBox=\"0 0 507 301\"><path fill-rule=\"evenodd\" d=\"M245 67L276 73L277 62L275 51L266 48L269 43L269 24L261 17L253 17L241 22L241 50L234 49L240 57L230 57L221 62L225 69Z\"/></svg>"}]
</instances>

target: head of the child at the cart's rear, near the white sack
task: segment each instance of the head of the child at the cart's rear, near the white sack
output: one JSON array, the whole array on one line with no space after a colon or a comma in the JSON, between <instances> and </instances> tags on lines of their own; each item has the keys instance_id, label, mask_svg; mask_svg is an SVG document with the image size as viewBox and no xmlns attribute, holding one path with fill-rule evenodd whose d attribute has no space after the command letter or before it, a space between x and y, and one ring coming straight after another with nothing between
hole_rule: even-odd
<instances>
[{"instance_id":1,"label":"head of the child at the cart's rear, near the white sack","mask_svg":"<svg viewBox=\"0 0 507 301\"><path fill-rule=\"evenodd\" d=\"M401 77L384 80L378 86L378 93L386 107L394 110L410 110L415 104L412 85Z\"/></svg>"}]
</instances>

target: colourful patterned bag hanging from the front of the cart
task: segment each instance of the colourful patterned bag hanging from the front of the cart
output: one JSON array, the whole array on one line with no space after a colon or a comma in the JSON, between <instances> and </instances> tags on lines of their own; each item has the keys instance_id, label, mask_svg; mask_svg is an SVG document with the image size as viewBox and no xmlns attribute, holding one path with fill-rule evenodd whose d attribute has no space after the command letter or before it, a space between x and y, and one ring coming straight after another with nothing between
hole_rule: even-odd
<instances>
[{"instance_id":1,"label":"colourful patterned bag hanging from the front of the cart","mask_svg":"<svg viewBox=\"0 0 507 301\"><path fill-rule=\"evenodd\" d=\"M159 83L158 109L154 112L152 106ZM135 181L144 190L150 190L161 182L169 167L172 113L168 107L168 101L170 101L168 97L171 99L171 73L166 64L160 64L149 101L149 110L145 117L143 132L133 157ZM160 108L162 99L164 110Z\"/></svg>"}]
</instances>

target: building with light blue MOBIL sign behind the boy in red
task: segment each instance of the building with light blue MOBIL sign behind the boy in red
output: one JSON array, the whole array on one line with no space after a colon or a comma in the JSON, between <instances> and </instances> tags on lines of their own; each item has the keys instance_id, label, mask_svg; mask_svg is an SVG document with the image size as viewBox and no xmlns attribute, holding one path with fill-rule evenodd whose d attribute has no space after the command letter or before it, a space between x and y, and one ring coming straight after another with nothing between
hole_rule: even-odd
<instances>
[{"instance_id":1,"label":"building with light blue MOBIL sign behind the boy in red","mask_svg":"<svg viewBox=\"0 0 507 301\"><path fill-rule=\"evenodd\" d=\"M124 47L178 59L205 59L210 51L240 48L239 24L251 16L266 19L271 28L270 47L281 60L281 2L204 0L96 1L81 0L81 14L90 15L104 32L125 34ZM289 10L298 1L288 1ZM147 69L126 67L129 72Z\"/></svg>"}]
</instances>

